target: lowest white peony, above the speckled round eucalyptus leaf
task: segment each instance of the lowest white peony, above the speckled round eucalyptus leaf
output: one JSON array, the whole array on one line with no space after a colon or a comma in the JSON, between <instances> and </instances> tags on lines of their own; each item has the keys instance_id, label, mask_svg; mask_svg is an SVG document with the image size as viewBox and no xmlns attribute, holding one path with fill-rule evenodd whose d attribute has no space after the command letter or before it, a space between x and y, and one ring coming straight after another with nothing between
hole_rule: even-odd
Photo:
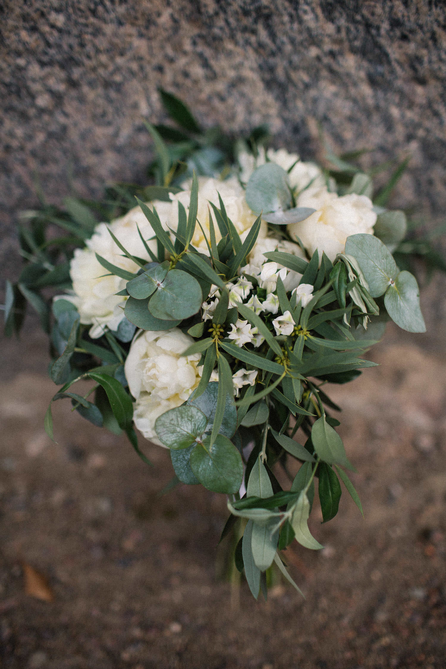
<instances>
[{"instance_id":1,"label":"lowest white peony, above the speckled round eucalyptus leaf","mask_svg":"<svg viewBox=\"0 0 446 669\"><path fill-rule=\"evenodd\" d=\"M138 430L154 444L154 424L159 415L179 407L199 384L202 367L200 353L181 357L194 343L178 328L137 334L125 363L126 379L135 402L133 419Z\"/></svg>"}]
</instances>

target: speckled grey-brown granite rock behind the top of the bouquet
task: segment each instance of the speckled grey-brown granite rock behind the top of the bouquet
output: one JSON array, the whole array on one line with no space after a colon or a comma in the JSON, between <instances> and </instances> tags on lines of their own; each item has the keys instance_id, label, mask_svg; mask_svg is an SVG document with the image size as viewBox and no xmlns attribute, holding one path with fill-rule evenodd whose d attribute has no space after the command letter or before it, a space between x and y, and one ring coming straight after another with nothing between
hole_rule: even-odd
<instances>
[{"instance_id":1,"label":"speckled grey-brown granite rock behind the top of the bouquet","mask_svg":"<svg viewBox=\"0 0 446 669\"><path fill-rule=\"evenodd\" d=\"M203 124L269 122L304 157L318 121L337 150L376 148L365 165L411 153L395 204L446 209L438 0L3 0L0 31L2 277L35 175L51 201L143 178L160 85Z\"/></svg>"}]
</instances>

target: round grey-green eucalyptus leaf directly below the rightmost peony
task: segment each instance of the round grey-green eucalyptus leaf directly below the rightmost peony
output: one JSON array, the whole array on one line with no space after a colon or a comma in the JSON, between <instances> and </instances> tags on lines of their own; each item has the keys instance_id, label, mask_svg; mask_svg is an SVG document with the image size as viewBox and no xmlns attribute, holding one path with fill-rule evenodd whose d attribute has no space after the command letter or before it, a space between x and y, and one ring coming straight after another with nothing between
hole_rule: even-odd
<instances>
[{"instance_id":1,"label":"round grey-green eucalyptus leaf directly below the rightmost peony","mask_svg":"<svg viewBox=\"0 0 446 669\"><path fill-rule=\"evenodd\" d=\"M391 252L374 235L350 235L345 243L345 252L359 263L372 297L384 294L391 279L398 274Z\"/></svg>"}]
</instances>

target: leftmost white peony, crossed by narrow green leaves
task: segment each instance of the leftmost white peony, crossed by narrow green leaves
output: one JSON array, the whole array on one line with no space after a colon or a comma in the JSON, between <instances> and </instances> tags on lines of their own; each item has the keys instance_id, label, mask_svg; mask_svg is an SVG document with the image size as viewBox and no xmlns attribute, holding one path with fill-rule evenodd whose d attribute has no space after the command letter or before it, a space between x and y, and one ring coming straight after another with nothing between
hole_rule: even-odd
<instances>
[{"instance_id":1,"label":"leftmost white peony, crossed by narrow green leaves","mask_svg":"<svg viewBox=\"0 0 446 669\"><path fill-rule=\"evenodd\" d=\"M132 256L150 260L140 240L136 225L144 240L153 237L152 226L140 207L134 207L122 218L112 221L109 227ZM126 287L126 280L118 276L110 276L108 270L96 260L95 254L97 253L127 272L136 272L138 265L124 256L112 240L106 223L96 225L94 235L87 240L86 245L86 248L76 249L74 252L74 258L70 263L74 295L64 295L64 298L76 304L80 313L80 322L92 324L90 337L97 339L104 334L106 326L110 330L116 330L124 317L123 307L126 298L117 296L116 293ZM147 245L156 253L155 240L147 242Z\"/></svg>"}]
</instances>

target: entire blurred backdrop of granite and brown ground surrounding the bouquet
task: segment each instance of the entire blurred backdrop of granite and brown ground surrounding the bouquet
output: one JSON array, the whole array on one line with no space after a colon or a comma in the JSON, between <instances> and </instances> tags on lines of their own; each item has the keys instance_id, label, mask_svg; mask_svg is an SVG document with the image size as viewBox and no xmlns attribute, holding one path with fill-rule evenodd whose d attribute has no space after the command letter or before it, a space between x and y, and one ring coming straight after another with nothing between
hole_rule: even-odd
<instances>
[{"instance_id":1,"label":"entire blurred backdrop of granite and brown ground surrounding the bouquet","mask_svg":"<svg viewBox=\"0 0 446 669\"><path fill-rule=\"evenodd\" d=\"M410 155L391 204L433 229L445 79L439 0L1 1L0 302L36 183L58 204L144 183L142 119L166 120L158 86L205 127L267 122L304 159L322 156L318 124L334 151L374 149L364 169ZM443 669L444 285L422 290L426 335L389 327L381 366L333 389L365 520L344 496L330 524L316 510L324 551L287 551L306 601L277 581L255 604L218 581L225 500L193 486L160 497L164 450L144 444L146 468L62 402L49 442L46 337L31 316L21 343L2 338L0 666Z\"/></svg>"}]
</instances>

